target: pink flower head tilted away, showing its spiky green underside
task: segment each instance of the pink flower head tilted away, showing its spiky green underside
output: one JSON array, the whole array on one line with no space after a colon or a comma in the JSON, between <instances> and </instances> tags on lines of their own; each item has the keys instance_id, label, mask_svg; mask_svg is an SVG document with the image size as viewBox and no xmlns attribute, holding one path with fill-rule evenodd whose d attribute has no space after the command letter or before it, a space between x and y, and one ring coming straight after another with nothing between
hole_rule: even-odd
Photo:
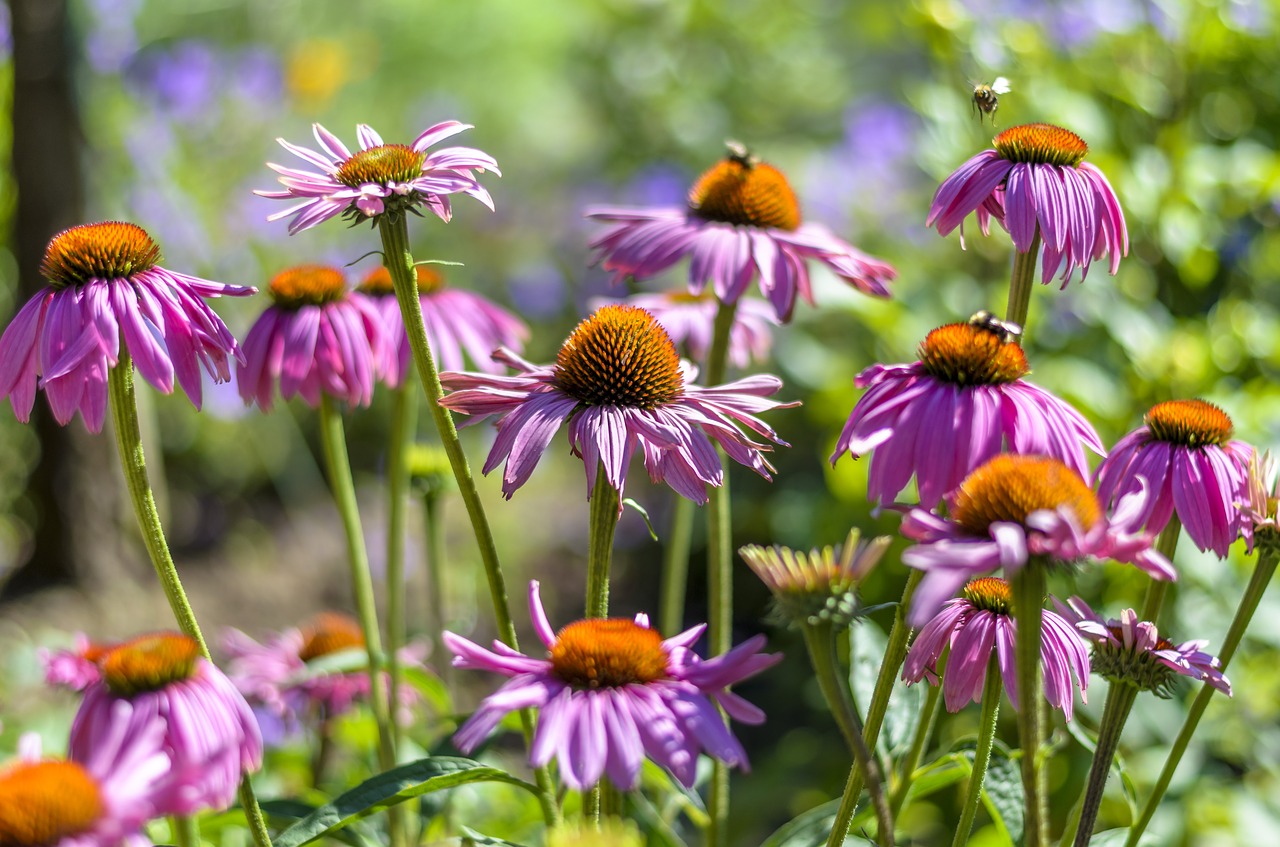
<instances>
[{"instance_id":1,"label":"pink flower head tilted away, showing its spiky green underside","mask_svg":"<svg viewBox=\"0 0 1280 847\"><path fill-rule=\"evenodd\" d=\"M1085 638L1093 642L1093 670L1111 682L1124 682L1158 697L1169 697L1179 676L1199 679L1231 696L1231 683L1222 664L1202 647L1208 641L1174 644L1160 637L1155 623L1139 621L1125 609L1120 619L1105 621L1080 598L1066 605L1053 601Z\"/></svg>"}]
</instances>

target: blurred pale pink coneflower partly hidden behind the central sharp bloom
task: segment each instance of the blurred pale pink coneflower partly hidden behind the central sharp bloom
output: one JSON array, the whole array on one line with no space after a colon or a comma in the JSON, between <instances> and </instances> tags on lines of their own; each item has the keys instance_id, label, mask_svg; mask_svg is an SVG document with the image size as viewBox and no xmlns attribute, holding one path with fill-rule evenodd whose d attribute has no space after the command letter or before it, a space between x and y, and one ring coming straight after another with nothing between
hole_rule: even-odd
<instances>
[{"instance_id":1,"label":"blurred pale pink coneflower partly hidden behind the central sharp bloom","mask_svg":"<svg viewBox=\"0 0 1280 847\"><path fill-rule=\"evenodd\" d=\"M618 301L598 298L591 307L599 308ZM708 292L690 294L689 292L660 292L658 294L634 294L626 299L627 306L643 308L662 324L677 348L682 347L695 362L705 362L712 347L716 329L716 312L719 303ZM733 311L733 325L728 333L728 361L733 367L744 368L753 361L763 362L769 356L773 344L773 328L778 319L773 308L762 299L744 297Z\"/></svg>"}]
</instances>

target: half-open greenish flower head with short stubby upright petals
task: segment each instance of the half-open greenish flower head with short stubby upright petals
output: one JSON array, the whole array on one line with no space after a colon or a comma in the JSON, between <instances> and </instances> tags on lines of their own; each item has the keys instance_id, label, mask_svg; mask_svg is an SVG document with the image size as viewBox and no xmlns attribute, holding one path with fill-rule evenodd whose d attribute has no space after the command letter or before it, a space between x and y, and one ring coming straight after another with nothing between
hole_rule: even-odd
<instances>
[{"instance_id":1,"label":"half-open greenish flower head with short stubby upright petals","mask_svg":"<svg viewBox=\"0 0 1280 847\"><path fill-rule=\"evenodd\" d=\"M773 592L783 622L846 627L859 614L858 583L881 560L891 541L888 536L860 541L860 535L856 528L850 530L844 548L805 553L749 544L739 555Z\"/></svg>"}]
</instances>

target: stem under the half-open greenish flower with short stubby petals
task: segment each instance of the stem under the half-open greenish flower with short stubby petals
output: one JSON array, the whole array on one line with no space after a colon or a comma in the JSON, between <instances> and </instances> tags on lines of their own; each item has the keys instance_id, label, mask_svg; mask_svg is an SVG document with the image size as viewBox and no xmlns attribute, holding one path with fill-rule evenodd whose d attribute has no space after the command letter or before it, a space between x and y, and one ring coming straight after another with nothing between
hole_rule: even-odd
<instances>
[{"instance_id":1,"label":"stem under the half-open greenish flower with short stubby petals","mask_svg":"<svg viewBox=\"0 0 1280 847\"><path fill-rule=\"evenodd\" d=\"M809 660L818 677L818 686L822 688L827 705L831 706L831 714L836 718L836 725L840 727L840 732L845 736L845 742L854 756L854 769L863 773L872 796L877 821L876 843L888 847L893 843L893 818L890 814L888 802L884 800L884 782L881 779L879 763L867 747L861 722L858 719L849 688L844 682L845 674L840 667L840 658L836 655L836 629L829 623L805 626L804 642L809 649ZM845 784L846 792L854 787L852 779ZM860 793L861 788L859 787L850 802L856 803ZM847 833L847 824L845 830L832 829L831 839L827 842L828 847L844 844Z\"/></svg>"}]
</instances>

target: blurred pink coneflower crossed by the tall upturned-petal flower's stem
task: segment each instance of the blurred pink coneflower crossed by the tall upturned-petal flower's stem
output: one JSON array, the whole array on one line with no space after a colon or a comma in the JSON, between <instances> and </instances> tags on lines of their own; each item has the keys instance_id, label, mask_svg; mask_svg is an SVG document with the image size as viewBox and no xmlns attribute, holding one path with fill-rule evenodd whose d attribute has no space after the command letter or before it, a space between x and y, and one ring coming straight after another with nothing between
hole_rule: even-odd
<instances>
[{"instance_id":1,"label":"blurred pink coneflower crossed by the tall upturned-petal flower's stem","mask_svg":"<svg viewBox=\"0 0 1280 847\"><path fill-rule=\"evenodd\" d=\"M404 333L404 319L396 301L392 275L384 266L375 267L358 292L372 298L387 326L388 344L394 347L381 379L389 386L399 385L410 370L413 351ZM518 317L479 294L449 288L444 276L426 265L417 266L417 292L422 303L422 324L440 368L461 371L466 353L477 370L500 374L503 366L493 361L493 352L506 347L517 353L524 349L529 328Z\"/></svg>"}]
</instances>

